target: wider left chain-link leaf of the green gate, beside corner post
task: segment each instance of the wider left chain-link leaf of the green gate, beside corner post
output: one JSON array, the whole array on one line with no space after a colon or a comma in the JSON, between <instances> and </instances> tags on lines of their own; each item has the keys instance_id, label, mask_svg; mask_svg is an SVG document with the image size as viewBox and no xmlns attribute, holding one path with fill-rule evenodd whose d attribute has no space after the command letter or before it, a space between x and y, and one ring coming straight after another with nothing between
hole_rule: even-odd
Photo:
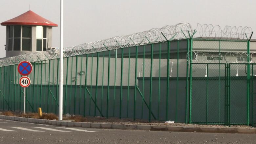
<instances>
[{"instance_id":1,"label":"wider left chain-link leaf of the green gate, beside corner post","mask_svg":"<svg viewBox=\"0 0 256 144\"><path fill-rule=\"evenodd\" d=\"M224 124L225 64L191 64L191 122Z\"/></svg>"}]
</instances>

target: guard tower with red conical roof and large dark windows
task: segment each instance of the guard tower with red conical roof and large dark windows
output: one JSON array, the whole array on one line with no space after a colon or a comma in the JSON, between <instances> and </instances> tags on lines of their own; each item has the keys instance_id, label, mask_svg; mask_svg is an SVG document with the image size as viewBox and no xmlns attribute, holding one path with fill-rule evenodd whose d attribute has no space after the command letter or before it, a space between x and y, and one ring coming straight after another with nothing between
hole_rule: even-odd
<instances>
[{"instance_id":1,"label":"guard tower with red conical roof and large dark windows","mask_svg":"<svg viewBox=\"0 0 256 144\"><path fill-rule=\"evenodd\" d=\"M31 10L1 25L6 26L6 57L50 50L52 27L58 26Z\"/></svg>"}]
</instances>

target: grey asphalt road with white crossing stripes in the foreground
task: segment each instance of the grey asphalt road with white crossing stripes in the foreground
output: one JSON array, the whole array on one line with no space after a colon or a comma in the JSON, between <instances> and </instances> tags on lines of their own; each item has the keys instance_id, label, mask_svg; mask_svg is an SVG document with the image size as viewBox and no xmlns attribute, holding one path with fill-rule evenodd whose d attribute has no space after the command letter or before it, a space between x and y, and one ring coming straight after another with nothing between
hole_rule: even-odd
<instances>
[{"instance_id":1,"label":"grey asphalt road with white crossing stripes in the foreground","mask_svg":"<svg viewBox=\"0 0 256 144\"><path fill-rule=\"evenodd\" d=\"M89 129L0 120L0 144L46 143L255 144L256 134Z\"/></svg>"}]
</instances>

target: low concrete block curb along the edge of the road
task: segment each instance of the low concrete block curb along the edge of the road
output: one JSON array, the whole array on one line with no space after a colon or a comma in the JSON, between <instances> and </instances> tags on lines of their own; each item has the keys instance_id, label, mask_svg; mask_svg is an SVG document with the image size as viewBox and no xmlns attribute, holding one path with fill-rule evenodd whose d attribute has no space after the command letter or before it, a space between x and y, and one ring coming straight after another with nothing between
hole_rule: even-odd
<instances>
[{"instance_id":1,"label":"low concrete block curb along the edge of the road","mask_svg":"<svg viewBox=\"0 0 256 144\"><path fill-rule=\"evenodd\" d=\"M181 126L150 126L150 125L109 124L109 123L88 123L88 122L69 122L69 121L57 121L57 120L46 120L46 119L34 119L34 118L24 118L24 117L5 116L5 115L0 115L0 119L28 122L28 123L48 124L48 125L54 125L54 126L97 128L97 129L256 134L255 128L181 127Z\"/></svg>"}]
</instances>

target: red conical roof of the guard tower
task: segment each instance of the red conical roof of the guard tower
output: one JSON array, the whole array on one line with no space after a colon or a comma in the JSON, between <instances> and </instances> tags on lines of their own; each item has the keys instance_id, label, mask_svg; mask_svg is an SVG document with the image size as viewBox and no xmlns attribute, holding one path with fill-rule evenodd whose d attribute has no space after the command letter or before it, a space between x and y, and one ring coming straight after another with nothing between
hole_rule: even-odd
<instances>
[{"instance_id":1,"label":"red conical roof of the guard tower","mask_svg":"<svg viewBox=\"0 0 256 144\"><path fill-rule=\"evenodd\" d=\"M57 27L58 25L41 17L40 15L29 10L13 19L2 22L2 26L7 25L37 25L37 26L52 26Z\"/></svg>"}]
</instances>

